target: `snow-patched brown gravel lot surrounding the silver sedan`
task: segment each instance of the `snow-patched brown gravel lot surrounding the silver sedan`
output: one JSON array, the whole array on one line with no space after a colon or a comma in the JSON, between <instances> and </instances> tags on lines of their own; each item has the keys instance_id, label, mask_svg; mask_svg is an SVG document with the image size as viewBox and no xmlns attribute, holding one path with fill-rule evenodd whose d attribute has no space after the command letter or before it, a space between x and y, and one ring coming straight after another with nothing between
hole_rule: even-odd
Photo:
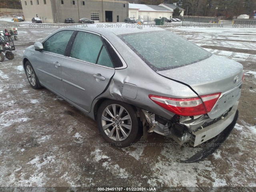
<instances>
[{"instance_id":1,"label":"snow-patched brown gravel lot surrounding the silver sedan","mask_svg":"<svg viewBox=\"0 0 256 192\"><path fill-rule=\"evenodd\" d=\"M240 62L246 75L239 120L228 139L205 160L180 164L177 159L189 158L200 148L180 147L155 133L136 146L111 147L100 136L96 122L52 92L32 89L22 68L22 53L58 26L15 24L19 24L15 58L0 63L1 187L255 190L256 28L167 28L214 54ZM0 25L14 23L0 19Z\"/></svg>"}]
</instances>

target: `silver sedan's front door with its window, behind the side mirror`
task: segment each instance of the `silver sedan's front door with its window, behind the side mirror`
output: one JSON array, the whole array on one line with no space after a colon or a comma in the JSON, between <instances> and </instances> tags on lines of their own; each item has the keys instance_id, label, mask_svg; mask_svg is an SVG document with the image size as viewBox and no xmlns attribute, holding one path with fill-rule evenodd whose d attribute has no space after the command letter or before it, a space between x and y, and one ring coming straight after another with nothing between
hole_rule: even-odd
<instances>
[{"instance_id":1,"label":"silver sedan's front door with its window, behind the side mirror","mask_svg":"<svg viewBox=\"0 0 256 192\"><path fill-rule=\"evenodd\" d=\"M65 62L65 51L74 30L62 30L43 42L44 50L34 52L33 67L40 83L46 88L65 96L61 79L61 68Z\"/></svg>"}]
</instances>

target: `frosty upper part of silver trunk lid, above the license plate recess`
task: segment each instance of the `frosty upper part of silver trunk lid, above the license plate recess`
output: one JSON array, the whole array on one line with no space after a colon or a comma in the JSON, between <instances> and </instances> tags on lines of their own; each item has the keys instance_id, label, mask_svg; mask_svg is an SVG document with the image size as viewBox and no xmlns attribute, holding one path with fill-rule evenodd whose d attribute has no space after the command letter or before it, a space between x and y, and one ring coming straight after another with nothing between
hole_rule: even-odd
<instances>
[{"instance_id":1,"label":"frosty upper part of silver trunk lid, above the license plate recess","mask_svg":"<svg viewBox=\"0 0 256 192\"><path fill-rule=\"evenodd\" d=\"M234 88L242 81L243 66L213 54L200 62L157 73L189 85L198 95L205 95Z\"/></svg>"}]
</instances>

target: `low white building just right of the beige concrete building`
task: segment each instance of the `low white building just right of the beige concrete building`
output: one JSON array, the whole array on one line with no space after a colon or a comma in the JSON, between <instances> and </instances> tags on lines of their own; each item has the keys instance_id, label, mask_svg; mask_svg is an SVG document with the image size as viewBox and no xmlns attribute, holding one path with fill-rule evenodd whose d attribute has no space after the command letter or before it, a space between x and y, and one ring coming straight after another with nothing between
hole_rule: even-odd
<instances>
[{"instance_id":1,"label":"low white building just right of the beige concrete building","mask_svg":"<svg viewBox=\"0 0 256 192\"><path fill-rule=\"evenodd\" d=\"M170 18L172 12L164 6L129 3L129 18L153 21L155 18Z\"/></svg>"}]
</instances>

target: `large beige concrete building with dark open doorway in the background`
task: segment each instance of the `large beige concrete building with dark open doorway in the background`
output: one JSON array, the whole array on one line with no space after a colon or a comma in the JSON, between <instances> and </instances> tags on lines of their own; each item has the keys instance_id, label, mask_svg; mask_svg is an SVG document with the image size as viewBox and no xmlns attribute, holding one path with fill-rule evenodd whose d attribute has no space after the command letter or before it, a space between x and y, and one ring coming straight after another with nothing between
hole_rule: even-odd
<instances>
[{"instance_id":1,"label":"large beige concrete building with dark open doorway in the background","mask_svg":"<svg viewBox=\"0 0 256 192\"><path fill-rule=\"evenodd\" d=\"M124 22L128 17L127 0L21 0L25 20L36 15L45 23L64 23L66 18L78 22L88 18L94 22Z\"/></svg>"}]
</instances>

